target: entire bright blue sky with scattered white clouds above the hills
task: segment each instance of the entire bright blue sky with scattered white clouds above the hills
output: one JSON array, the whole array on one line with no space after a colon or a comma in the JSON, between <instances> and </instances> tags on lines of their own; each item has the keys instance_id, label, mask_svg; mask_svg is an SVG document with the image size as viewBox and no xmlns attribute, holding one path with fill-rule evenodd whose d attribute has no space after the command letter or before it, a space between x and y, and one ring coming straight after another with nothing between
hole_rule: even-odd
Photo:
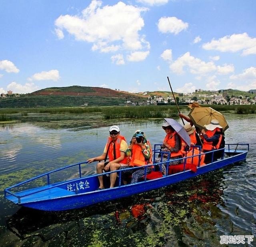
<instances>
[{"instance_id":1,"label":"entire bright blue sky with scattered white clouds above the hills","mask_svg":"<svg viewBox=\"0 0 256 247\"><path fill-rule=\"evenodd\" d=\"M255 0L8 0L0 93L256 89Z\"/></svg>"}]
</instances>

